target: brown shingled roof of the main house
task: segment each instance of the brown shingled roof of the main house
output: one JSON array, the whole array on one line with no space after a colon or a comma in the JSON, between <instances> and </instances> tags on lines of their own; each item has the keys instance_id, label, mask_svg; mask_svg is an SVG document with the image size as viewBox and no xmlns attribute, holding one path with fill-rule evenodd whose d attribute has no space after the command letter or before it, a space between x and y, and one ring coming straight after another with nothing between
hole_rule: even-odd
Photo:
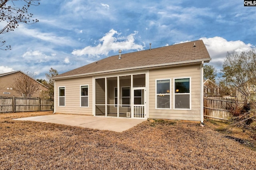
<instances>
[{"instance_id":1,"label":"brown shingled roof of the main house","mask_svg":"<svg viewBox=\"0 0 256 170\"><path fill-rule=\"evenodd\" d=\"M107 57L97 62L54 76L52 79L72 78L114 71L196 63L202 61L208 63L211 60L202 40L126 53L121 55L122 59L118 59L118 57L119 55Z\"/></svg>"}]
</instances>

